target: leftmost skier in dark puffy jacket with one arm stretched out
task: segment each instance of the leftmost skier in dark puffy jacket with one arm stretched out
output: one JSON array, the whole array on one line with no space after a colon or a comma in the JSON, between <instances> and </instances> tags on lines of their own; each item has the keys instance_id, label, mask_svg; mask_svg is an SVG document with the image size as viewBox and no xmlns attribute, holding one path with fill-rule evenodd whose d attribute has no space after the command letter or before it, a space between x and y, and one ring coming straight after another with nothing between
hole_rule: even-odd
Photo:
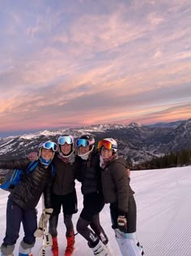
<instances>
[{"instance_id":1,"label":"leftmost skier in dark puffy jacket with one arm stretched out","mask_svg":"<svg viewBox=\"0 0 191 256\"><path fill-rule=\"evenodd\" d=\"M45 219L49 219L53 211L51 204L52 160L56 151L57 144L53 141L40 143L39 162L35 169L28 174L25 172L30 163L28 158L0 161L2 169L23 170L22 179L11 191L7 201L6 236L1 245L2 256L13 255L15 243L19 238L21 222L23 223L24 237L19 245L19 256L32 255L31 250L36 241L34 236L37 228L36 206L42 193L45 198Z\"/></svg>"}]
</instances>

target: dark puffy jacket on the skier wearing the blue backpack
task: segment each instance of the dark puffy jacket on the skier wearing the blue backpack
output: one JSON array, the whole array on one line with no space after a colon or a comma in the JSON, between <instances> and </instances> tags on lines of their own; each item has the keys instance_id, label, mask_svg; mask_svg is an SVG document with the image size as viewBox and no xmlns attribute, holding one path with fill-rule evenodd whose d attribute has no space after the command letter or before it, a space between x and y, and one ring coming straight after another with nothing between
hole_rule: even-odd
<instances>
[{"instance_id":1,"label":"dark puffy jacket on the skier wearing the blue backpack","mask_svg":"<svg viewBox=\"0 0 191 256\"><path fill-rule=\"evenodd\" d=\"M45 167L39 162L33 171L24 175L29 163L30 160L28 158L0 161L0 168L2 169L23 170L22 179L15 186L15 189L11 191L9 198L23 210L28 210L37 206L41 194L44 193L45 207L52 208L50 195L53 175L51 165Z\"/></svg>"}]
</instances>

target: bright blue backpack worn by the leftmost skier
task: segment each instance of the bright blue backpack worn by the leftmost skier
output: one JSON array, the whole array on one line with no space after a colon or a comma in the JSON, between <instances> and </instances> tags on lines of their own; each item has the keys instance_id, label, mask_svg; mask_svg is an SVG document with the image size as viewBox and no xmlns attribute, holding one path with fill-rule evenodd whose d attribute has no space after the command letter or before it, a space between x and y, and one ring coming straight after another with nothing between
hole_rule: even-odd
<instances>
[{"instance_id":1,"label":"bright blue backpack worn by the leftmost skier","mask_svg":"<svg viewBox=\"0 0 191 256\"><path fill-rule=\"evenodd\" d=\"M38 165L39 161L32 161L28 164L28 167L26 169L25 174L28 174L29 172L33 171L36 166ZM55 175L55 167L52 164L52 175ZM23 176L23 170L20 169L14 169L7 172L5 180L2 184L0 184L0 189L6 190L11 192L15 185L19 183L19 180L21 180Z\"/></svg>"}]
</instances>

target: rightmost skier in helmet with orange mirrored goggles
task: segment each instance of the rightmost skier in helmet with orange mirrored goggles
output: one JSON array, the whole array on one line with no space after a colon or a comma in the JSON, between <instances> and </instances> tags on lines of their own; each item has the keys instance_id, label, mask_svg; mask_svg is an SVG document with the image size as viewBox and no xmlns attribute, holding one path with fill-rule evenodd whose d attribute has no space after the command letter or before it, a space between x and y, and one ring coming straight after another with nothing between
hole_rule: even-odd
<instances>
[{"instance_id":1,"label":"rightmost skier in helmet with orange mirrored goggles","mask_svg":"<svg viewBox=\"0 0 191 256\"><path fill-rule=\"evenodd\" d=\"M137 209L134 191L129 185L127 164L117 156L117 141L106 138L98 143L104 200L110 203L112 228L121 255L141 256L142 246L136 236Z\"/></svg>"}]
</instances>

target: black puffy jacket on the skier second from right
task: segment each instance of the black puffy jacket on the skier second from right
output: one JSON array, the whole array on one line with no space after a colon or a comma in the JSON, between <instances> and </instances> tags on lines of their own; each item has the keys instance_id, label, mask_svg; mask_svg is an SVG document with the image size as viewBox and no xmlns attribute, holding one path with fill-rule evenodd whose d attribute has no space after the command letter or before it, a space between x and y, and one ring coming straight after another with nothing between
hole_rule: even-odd
<instances>
[{"instance_id":1,"label":"black puffy jacket on the skier second from right","mask_svg":"<svg viewBox=\"0 0 191 256\"><path fill-rule=\"evenodd\" d=\"M77 157L79 165L77 179L82 183L82 193L100 193L101 186L101 170L100 170L100 154L93 151L87 160Z\"/></svg>"}]
</instances>

